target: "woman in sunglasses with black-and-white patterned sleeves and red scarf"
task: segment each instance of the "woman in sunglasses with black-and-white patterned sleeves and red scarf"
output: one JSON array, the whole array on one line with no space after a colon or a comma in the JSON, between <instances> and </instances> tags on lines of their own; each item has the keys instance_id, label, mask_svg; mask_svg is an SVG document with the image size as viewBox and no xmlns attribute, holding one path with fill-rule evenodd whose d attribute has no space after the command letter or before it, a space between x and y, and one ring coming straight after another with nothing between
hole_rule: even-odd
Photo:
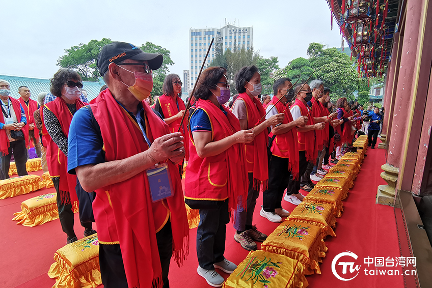
<instances>
[{"instance_id":1,"label":"woman in sunglasses with black-and-white patterned sleeves and red scarf","mask_svg":"<svg viewBox=\"0 0 432 288\"><path fill-rule=\"evenodd\" d=\"M83 82L78 73L69 68L61 68L51 79L50 92L56 100L43 106L41 119L42 134L49 134L46 145L46 159L49 174L57 191L57 207L63 232L67 234L67 244L77 241L73 229L73 210L78 207L77 192L80 188L75 175L67 173L68 134L73 114L85 104L79 97ZM81 222L85 227L84 237L96 231L92 223Z\"/></svg>"}]
</instances>

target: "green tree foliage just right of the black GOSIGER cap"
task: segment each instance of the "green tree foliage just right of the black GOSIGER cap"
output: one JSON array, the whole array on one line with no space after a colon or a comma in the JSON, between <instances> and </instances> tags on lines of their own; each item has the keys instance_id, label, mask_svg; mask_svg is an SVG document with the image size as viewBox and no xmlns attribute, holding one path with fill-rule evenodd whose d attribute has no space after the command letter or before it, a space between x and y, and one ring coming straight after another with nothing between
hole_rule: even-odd
<instances>
[{"instance_id":1,"label":"green tree foliage just right of the black GOSIGER cap","mask_svg":"<svg viewBox=\"0 0 432 288\"><path fill-rule=\"evenodd\" d=\"M163 48L159 45L153 44L151 42L146 42L146 44L141 45L141 50L147 53L157 53L164 56L164 61L159 69L153 71L153 90L151 92L152 96L162 95L162 86L164 84L165 77L169 73L169 67L174 64L170 57L170 50Z\"/></svg>"}]
</instances>

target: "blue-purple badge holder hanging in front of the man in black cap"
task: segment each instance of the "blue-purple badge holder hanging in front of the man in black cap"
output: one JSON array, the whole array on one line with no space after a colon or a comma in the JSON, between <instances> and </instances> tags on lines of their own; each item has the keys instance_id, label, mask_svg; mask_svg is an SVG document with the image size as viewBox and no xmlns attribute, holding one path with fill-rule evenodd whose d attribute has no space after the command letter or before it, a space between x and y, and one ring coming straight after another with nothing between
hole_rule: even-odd
<instances>
[{"instance_id":1,"label":"blue-purple badge holder hanging in front of the man in black cap","mask_svg":"<svg viewBox=\"0 0 432 288\"><path fill-rule=\"evenodd\" d=\"M151 200L157 202L174 195L168 164L159 164L146 170L150 186Z\"/></svg>"}]
</instances>

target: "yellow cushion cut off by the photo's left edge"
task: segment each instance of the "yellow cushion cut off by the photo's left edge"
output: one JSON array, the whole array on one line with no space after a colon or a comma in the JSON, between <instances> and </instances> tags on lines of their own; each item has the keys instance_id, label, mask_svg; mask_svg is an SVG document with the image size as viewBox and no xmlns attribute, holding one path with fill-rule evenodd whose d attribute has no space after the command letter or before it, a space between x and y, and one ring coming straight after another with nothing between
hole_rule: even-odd
<instances>
[{"instance_id":1,"label":"yellow cushion cut off by the photo's left edge","mask_svg":"<svg viewBox=\"0 0 432 288\"><path fill-rule=\"evenodd\" d=\"M0 199L27 194L43 188L40 177L37 175L25 175L6 180L0 180Z\"/></svg>"}]
</instances>

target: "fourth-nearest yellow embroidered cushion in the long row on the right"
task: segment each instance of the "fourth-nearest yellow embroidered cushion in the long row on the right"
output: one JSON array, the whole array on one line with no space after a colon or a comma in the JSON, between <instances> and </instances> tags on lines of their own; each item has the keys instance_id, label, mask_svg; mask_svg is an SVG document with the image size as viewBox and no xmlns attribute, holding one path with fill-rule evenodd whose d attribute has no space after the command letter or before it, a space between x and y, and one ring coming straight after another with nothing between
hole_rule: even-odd
<instances>
[{"instance_id":1,"label":"fourth-nearest yellow embroidered cushion in the long row on the right","mask_svg":"<svg viewBox=\"0 0 432 288\"><path fill-rule=\"evenodd\" d=\"M345 198L341 189L315 187L305 196L303 202L330 204L334 208L335 217L340 217L343 212L342 200Z\"/></svg>"}]
</instances>

